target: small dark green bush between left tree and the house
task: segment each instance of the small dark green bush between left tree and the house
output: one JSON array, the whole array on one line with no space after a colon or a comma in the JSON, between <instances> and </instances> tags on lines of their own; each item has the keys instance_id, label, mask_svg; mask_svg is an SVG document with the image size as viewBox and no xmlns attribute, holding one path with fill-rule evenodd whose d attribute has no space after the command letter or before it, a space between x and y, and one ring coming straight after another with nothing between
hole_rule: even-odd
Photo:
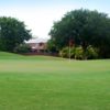
<instances>
[{"instance_id":1,"label":"small dark green bush between left tree and the house","mask_svg":"<svg viewBox=\"0 0 110 110\"><path fill-rule=\"evenodd\" d=\"M28 44L21 44L14 50L15 53L29 53L31 52L31 47Z\"/></svg>"}]
</instances>

